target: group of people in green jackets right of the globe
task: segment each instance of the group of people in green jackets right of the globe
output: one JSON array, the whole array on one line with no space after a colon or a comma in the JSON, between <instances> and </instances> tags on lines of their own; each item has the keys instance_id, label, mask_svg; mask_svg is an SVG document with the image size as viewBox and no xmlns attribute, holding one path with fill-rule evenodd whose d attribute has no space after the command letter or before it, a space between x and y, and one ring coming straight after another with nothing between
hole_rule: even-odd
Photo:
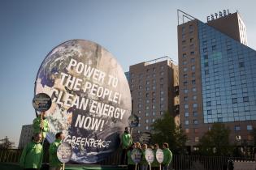
<instances>
[{"instance_id":1,"label":"group of people in green jackets right of the globe","mask_svg":"<svg viewBox=\"0 0 256 170\"><path fill-rule=\"evenodd\" d=\"M145 159L145 150L147 148L152 149L154 151L154 162L151 164L152 170L159 170L160 166L162 166L163 170L167 170L169 165L171 164L172 153L169 149L169 145L167 142L163 143L163 163L160 165L158 160L156 159L156 151L159 149L158 143L154 145L148 146L147 144L142 144L140 142L132 142L132 135L129 132L129 128L126 127L124 130L124 134L121 137L122 142L122 154L121 154L121 164L127 164L128 170L134 170L136 168L136 163L132 160L132 150L137 148L141 151L141 161L138 164L138 170L148 170L149 163Z\"/></svg>"}]
</instances>

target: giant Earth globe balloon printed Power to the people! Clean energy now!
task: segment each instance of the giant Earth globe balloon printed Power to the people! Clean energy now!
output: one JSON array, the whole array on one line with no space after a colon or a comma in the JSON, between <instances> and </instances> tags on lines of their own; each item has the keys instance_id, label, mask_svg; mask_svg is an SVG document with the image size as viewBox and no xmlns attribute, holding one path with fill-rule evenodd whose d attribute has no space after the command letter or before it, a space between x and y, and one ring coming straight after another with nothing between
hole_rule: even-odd
<instances>
[{"instance_id":1,"label":"giant Earth globe balloon printed Power to the people! Clean energy now!","mask_svg":"<svg viewBox=\"0 0 256 170\"><path fill-rule=\"evenodd\" d=\"M115 57L89 40L68 40L55 47L41 63L34 89L46 93L50 132L65 134L72 145L72 161L92 164L119 147L120 135L131 115L131 94Z\"/></svg>"}]
</instances>

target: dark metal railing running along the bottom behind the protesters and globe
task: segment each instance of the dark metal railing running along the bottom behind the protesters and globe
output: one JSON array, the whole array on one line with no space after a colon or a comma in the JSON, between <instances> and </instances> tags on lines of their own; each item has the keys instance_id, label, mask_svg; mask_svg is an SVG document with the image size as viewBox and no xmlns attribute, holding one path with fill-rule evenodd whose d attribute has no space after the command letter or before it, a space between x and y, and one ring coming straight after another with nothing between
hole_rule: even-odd
<instances>
[{"instance_id":1,"label":"dark metal railing running along the bottom behind the protesters and globe","mask_svg":"<svg viewBox=\"0 0 256 170\"><path fill-rule=\"evenodd\" d=\"M22 150L0 149L0 163L19 163ZM102 165L118 165L120 162L121 150L115 151L104 161ZM48 153L45 152L44 163L48 163ZM253 159L226 157L226 156L204 156L204 155L173 155L170 169L175 170L227 170L228 160L251 161Z\"/></svg>"}]
</instances>

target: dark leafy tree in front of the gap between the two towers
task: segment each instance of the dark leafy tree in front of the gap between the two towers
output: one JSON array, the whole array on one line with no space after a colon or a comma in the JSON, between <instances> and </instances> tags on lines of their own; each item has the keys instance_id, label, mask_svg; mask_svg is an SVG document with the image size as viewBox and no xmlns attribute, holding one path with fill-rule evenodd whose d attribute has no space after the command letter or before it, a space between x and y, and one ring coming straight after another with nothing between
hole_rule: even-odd
<instances>
[{"instance_id":1,"label":"dark leafy tree in front of the gap between the two towers","mask_svg":"<svg viewBox=\"0 0 256 170\"><path fill-rule=\"evenodd\" d=\"M152 142L158 143L160 146L163 142L169 144L170 150L175 154L183 154L185 152L185 142L187 137L180 125L176 125L174 117L166 112L162 118L154 121L152 127Z\"/></svg>"}]
</instances>

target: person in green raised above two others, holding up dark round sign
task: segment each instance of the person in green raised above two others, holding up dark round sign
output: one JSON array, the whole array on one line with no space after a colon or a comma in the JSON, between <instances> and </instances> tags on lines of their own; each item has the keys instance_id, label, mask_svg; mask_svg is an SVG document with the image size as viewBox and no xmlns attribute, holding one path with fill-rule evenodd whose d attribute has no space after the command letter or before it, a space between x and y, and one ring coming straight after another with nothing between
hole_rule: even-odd
<instances>
[{"instance_id":1,"label":"person in green raised above two others, holding up dark round sign","mask_svg":"<svg viewBox=\"0 0 256 170\"><path fill-rule=\"evenodd\" d=\"M33 134L41 133L42 140L46 138L46 133L49 131L49 122L46 119L46 113L42 112L37 118L33 120Z\"/></svg>"}]
</instances>

